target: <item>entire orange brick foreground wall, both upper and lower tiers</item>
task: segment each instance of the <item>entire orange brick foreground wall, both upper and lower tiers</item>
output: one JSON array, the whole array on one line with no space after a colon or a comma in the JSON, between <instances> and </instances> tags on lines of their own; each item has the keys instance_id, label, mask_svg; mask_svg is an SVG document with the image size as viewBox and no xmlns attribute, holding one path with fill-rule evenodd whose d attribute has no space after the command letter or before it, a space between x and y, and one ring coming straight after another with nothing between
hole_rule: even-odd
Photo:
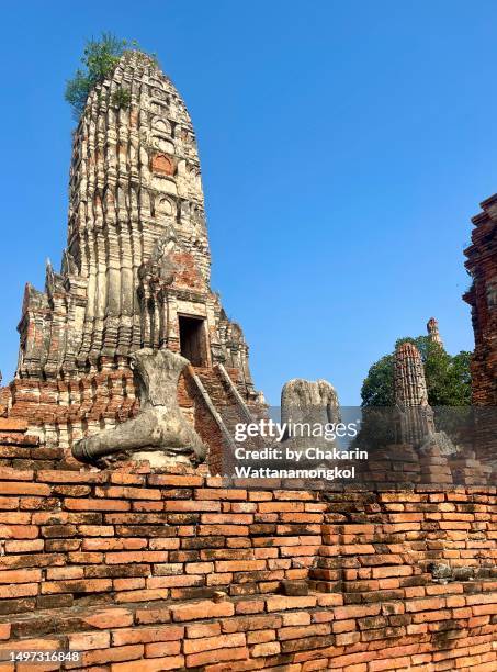
<instances>
[{"instance_id":1,"label":"entire orange brick foreground wall, both upper and lower tiers","mask_svg":"<svg viewBox=\"0 0 497 672\"><path fill-rule=\"evenodd\" d=\"M12 467L0 481L0 651L69 647L83 659L66 668L92 672L497 664L495 489ZM433 583L442 559L475 578ZM309 595L276 594L306 578Z\"/></svg>"}]
</instances>

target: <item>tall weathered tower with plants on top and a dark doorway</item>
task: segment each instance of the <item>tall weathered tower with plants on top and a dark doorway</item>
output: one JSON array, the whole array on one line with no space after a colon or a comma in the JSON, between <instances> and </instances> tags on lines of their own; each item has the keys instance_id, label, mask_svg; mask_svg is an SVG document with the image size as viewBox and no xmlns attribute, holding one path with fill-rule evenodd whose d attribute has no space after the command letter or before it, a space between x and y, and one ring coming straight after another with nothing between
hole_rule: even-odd
<instances>
[{"instance_id":1,"label":"tall weathered tower with plants on top and a dark doorway","mask_svg":"<svg viewBox=\"0 0 497 672\"><path fill-rule=\"evenodd\" d=\"M9 413L26 416L43 438L71 445L133 415L129 355L168 348L194 367L196 384L184 384L182 404L201 433L212 443L211 423L229 434L216 407L256 400L248 347L210 287L189 113L145 54L125 53L88 97L69 191L60 273L48 264L45 291L26 285Z\"/></svg>"}]
</instances>

